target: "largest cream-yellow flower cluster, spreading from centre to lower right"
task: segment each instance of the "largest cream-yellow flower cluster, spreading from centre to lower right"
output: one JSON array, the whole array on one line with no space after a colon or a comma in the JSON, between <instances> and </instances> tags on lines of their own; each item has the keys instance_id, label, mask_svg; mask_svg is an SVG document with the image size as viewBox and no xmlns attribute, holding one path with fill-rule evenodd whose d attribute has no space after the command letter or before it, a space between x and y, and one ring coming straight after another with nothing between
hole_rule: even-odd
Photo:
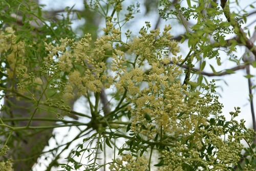
<instances>
[{"instance_id":1,"label":"largest cream-yellow flower cluster, spreading from centre to lower right","mask_svg":"<svg viewBox=\"0 0 256 171\"><path fill-rule=\"evenodd\" d=\"M238 133L250 136L244 130L244 122L232 119L230 124L226 123L221 115L223 105L218 96L213 95L214 82L203 86L203 91L189 91L189 87L180 82L183 71L177 64L183 60L176 56L179 47L170 40L170 27L166 26L162 35L159 30L148 33L148 28L147 23L147 27L140 30L141 35L133 40L134 44L130 44L129 53L136 55L134 61L126 60L122 52L118 52L118 58L113 57L112 67L116 70L112 70L118 72L114 85L118 92L126 93L125 100L130 103L127 110L132 116L131 131L143 139L143 143L165 146L164 151L159 151L162 170L181 170L186 166L218 169L236 164L244 148L241 140L245 138ZM169 52L172 58L168 57ZM133 67L122 68L125 62L132 63ZM231 115L237 116L239 108L235 113Z\"/></svg>"}]
</instances>

